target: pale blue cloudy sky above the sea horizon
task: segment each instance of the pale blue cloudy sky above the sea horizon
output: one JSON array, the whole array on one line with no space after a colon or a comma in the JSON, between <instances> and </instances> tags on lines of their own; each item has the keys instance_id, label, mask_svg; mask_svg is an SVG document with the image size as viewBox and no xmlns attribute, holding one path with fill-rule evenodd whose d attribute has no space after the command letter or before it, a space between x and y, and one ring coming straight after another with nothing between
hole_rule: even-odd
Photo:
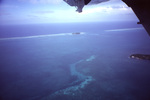
<instances>
[{"instance_id":1,"label":"pale blue cloudy sky above the sea horizon","mask_svg":"<svg viewBox=\"0 0 150 100\"><path fill-rule=\"evenodd\" d=\"M86 5L82 13L63 0L0 0L0 24L137 21L121 0Z\"/></svg>"}]
</instances>

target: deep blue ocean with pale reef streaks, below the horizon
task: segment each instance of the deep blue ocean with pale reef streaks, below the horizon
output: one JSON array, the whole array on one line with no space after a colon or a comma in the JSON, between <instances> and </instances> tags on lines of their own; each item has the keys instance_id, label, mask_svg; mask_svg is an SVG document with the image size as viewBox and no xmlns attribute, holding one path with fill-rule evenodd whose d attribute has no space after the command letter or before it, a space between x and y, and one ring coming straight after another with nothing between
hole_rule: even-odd
<instances>
[{"instance_id":1,"label":"deep blue ocean with pale reef streaks, below the horizon","mask_svg":"<svg viewBox=\"0 0 150 100\"><path fill-rule=\"evenodd\" d=\"M150 37L141 25L0 29L0 100L150 100L150 61L129 58L150 54Z\"/></svg>"}]
</instances>

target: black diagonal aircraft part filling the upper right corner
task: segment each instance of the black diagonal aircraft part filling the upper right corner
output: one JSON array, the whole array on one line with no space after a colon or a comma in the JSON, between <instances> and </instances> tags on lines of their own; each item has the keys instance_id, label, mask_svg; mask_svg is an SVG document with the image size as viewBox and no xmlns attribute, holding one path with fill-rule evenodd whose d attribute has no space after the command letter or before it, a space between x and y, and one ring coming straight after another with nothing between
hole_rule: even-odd
<instances>
[{"instance_id":1,"label":"black diagonal aircraft part filling the upper right corner","mask_svg":"<svg viewBox=\"0 0 150 100\"><path fill-rule=\"evenodd\" d=\"M139 19L137 24L142 24L148 34L150 35L150 0L122 0L129 7Z\"/></svg>"}]
</instances>

